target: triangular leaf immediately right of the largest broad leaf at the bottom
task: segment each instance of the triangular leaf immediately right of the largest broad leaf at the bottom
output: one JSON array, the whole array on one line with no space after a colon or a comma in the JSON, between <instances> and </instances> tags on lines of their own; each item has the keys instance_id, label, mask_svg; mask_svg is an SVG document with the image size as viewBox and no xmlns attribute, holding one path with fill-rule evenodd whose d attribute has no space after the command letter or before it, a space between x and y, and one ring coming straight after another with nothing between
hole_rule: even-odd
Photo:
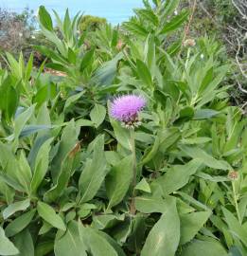
<instances>
[{"instance_id":1,"label":"triangular leaf immediately right of the largest broad leaf at the bottom","mask_svg":"<svg viewBox=\"0 0 247 256\"><path fill-rule=\"evenodd\" d=\"M194 238L194 236L203 228L203 225L211 215L211 211L191 212L182 214L180 245L184 245Z\"/></svg>"}]
</instances>

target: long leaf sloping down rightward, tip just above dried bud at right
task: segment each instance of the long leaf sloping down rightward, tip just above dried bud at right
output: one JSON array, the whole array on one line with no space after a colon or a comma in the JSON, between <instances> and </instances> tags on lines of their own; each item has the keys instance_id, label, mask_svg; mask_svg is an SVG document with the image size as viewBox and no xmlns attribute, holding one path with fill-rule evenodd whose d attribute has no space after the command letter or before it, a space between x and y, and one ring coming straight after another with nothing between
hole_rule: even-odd
<instances>
[{"instance_id":1,"label":"long leaf sloping down rightward, tip just above dried bud at right","mask_svg":"<svg viewBox=\"0 0 247 256\"><path fill-rule=\"evenodd\" d=\"M199 159L202 163L213 169L220 170L233 170L231 165L224 160L217 160L212 155L207 154L203 149L199 147L188 147L185 145L181 145L180 149L185 153L185 155L189 155L192 158Z\"/></svg>"}]
</instances>

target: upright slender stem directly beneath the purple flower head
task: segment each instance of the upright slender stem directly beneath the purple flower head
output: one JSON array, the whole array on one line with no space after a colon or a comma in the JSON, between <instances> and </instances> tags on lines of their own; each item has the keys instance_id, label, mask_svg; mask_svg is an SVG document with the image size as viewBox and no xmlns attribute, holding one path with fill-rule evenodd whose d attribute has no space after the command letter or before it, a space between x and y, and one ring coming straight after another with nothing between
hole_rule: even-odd
<instances>
[{"instance_id":1,"label":"upright slender stem directly beneath the purple flower head","mask_svg":"<svg viewBox=\"0 0 247 256\"><path fill-rule=\"evenodd\" d=\"M136 155L135 155L135 142L134 142L134 129L131 129L131 144L132 144L132 201L131 201L131 214L135 214L135 192L136 186Z\"/></svg>"}]
</instances>

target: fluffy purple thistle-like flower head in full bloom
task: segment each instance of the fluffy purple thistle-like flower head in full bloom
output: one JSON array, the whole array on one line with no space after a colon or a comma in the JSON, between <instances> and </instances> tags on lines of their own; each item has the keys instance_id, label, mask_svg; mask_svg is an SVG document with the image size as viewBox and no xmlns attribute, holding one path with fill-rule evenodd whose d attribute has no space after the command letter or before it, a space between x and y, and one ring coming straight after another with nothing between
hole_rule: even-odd
<instances>
[{"instance_id":1,"label":"fluffy purple thistle-like flower head in full bloom","mask_svg":"<svg viewBox=\"0 0 247 256\"><path fill-rule=\"evenodd\" d=\"M145 105L146 101L142 96L121 96L112 102L110 115L123 122L126 127L135 127L140 123L138 114Z\"/></svg>"}]
</instances>

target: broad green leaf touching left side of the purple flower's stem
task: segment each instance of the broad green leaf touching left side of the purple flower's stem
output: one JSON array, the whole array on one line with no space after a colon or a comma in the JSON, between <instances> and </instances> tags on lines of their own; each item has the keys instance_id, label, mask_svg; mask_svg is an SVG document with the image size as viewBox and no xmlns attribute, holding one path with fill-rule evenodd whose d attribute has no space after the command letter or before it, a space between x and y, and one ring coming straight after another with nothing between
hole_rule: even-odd
<instances>
[{"instance_id":1,"label":"broad green leaf touching left side of the purple flower's stem","mask_svg":"<svg viewBox=\"0 0 247 256\"><path fill-rule=\"evenodd\" d=\"M119 204L132 183L132 155L123 158L106 176L107 209Z\"/></svg>"}]
</instances>

